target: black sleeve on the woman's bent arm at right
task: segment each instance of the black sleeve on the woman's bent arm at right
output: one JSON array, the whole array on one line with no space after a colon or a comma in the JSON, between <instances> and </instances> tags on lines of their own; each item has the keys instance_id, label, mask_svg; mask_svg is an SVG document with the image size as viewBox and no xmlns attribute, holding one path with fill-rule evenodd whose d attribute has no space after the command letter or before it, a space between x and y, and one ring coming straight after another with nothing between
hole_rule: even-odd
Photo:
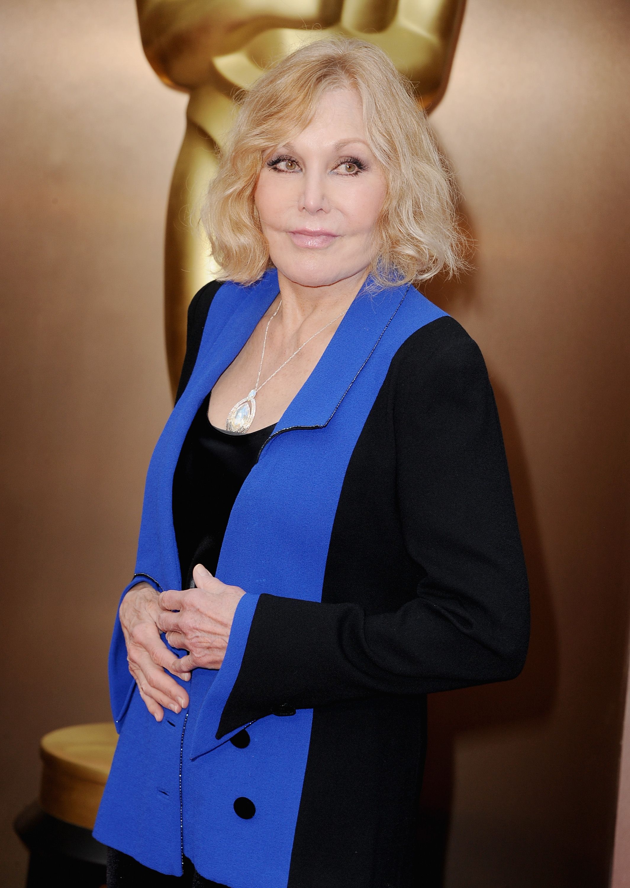
<instances>
[{"instance_id":1,"label":"black sleeve on the woman's bent arm at right","mask_svg":"<svg viewBox=\"0 0 630 888\"><path fill-rule=\"evenodd\" d=\"M462 329L433 353L399 354L390 416L416 595L382 614L261 595L219 735L283 703L426 694L523 668L527 578L484 359Z\"/></svg>"}]
</instances>

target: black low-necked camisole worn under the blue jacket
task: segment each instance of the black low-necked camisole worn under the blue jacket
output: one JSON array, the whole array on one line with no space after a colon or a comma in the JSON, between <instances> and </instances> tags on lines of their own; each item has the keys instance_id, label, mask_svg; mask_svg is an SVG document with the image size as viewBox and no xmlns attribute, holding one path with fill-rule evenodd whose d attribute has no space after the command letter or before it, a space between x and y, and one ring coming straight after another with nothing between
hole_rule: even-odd
<instances>
[{"instance_id":1,"label":"black low-necked camisole worn under the blue jacket","mask_svg":"<svg viewBox=\"0 0 630 888\"><path fill-rule=\"evenodd\" d=\"M193 567L214 575L232 505L275 425L257 432L224 432L208 418L210 396L197 411L173 476L173 522L182 589L193 585Z\"/></svg>"}]
</instances>

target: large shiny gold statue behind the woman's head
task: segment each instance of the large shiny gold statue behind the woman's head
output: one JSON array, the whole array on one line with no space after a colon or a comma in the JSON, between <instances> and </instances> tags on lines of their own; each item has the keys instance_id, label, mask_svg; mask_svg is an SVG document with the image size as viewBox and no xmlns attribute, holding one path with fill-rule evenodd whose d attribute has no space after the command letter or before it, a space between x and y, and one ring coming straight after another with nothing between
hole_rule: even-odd
<instances>
[{"instance_id":1,"label":"large shiny gold statue behind the woman's head","mask_svg":"<svg viewBox=\"0 0 630 888\"><path fill-rule=\"evenodd\" d=\"M235 91L273 61L332 35L380 46L415 84L423 107L445 90L464 0L137 0L146 58L161 80L190 93L170 187L165 325L170 383L184 360L186 309L215 277L198 222L232 122Z\"/></svg>"}]
</instances>

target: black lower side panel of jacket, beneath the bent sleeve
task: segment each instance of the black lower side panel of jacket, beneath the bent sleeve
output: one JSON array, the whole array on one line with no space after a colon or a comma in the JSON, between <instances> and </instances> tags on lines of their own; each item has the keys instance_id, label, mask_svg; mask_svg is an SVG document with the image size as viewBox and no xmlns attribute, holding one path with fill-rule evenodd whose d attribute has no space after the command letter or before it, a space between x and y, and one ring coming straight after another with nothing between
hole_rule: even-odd
<instances>
[{"instance_id":1,"label":"black lower side panel of jacket, beneath the bent sleeve","mask_svg":"<svg viewBox=\"0 0 630 888\"><path fill-rule=\"evenodd\" d=\"M426 697L313 712L289 888L418 888Z\"/></svg>"}]
</instances>

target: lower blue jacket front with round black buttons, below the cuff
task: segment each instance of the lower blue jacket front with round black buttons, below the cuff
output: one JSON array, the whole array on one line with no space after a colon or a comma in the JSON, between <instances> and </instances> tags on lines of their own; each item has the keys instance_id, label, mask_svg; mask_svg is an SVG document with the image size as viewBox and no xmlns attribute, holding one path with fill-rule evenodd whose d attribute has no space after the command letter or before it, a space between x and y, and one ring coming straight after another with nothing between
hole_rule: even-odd
<instances>
[{"instance_id":1,"label":"lower blue jacket front with round black buttons, below the cuff","mask_svg":"<svg viewBox=\"0 0 630 888\"><path fill-rule=\"evenodd\" d=\"M191 739L198 736L191 708L182 772L184 847L202 876L231 888L287 884L311 722L312 710L261 718L247 726L245 749L224 737L191 761ZM240 797L256 805L251 820L234 812Z\"/></svg>"}]
</instances>

